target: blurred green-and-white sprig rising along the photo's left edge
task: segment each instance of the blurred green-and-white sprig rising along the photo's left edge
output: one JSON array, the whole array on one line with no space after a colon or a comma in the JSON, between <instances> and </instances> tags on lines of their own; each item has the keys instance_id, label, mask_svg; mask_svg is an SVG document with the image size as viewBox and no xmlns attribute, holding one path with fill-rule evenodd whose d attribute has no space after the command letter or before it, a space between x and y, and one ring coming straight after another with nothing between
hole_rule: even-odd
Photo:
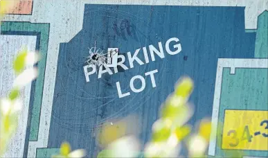
<instances>
[{"instance_id":1,"label":"blurred green-and-white sprig rising along the photo's left edge","mask_svg":"<svg viewBox=\"0 0 268 158\"><path fill-rule=\"evenodd\" d=\"M15 80L10 94L0 99L0 157L6 151L8 142L15 135L19 114L22 108L22 100L19 93L23 87L37 77L37 68L33 65L39 60L35 52L27 49L19 51L13 62Z\"/></svg>"}]
</instances>

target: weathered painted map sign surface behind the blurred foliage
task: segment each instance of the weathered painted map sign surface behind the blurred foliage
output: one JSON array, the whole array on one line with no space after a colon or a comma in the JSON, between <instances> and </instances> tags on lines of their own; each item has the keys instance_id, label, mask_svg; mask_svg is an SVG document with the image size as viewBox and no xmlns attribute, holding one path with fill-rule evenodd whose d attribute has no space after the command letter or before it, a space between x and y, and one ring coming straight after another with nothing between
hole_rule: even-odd
<instances>
[{"instance_id":1,"label":"weathered painted map sign surface behind the blurred foliage","mask_svg":"<svg viewBox=\"0 0 268 158\"><path fill-rule=\"evenodd\" d=\"M34 0L20 4L17 11L10 12L16 15L7 15L1 24L0 72L8 71L12 58L7 57L26 43L43 58L38 64L39 78L25 94L28 110L21 121L25 128L17 134L23 147L14 155L18 144L11 143L6 157L46 157L57 152L62 141L69 141L73 148L85 148L88 157L96 157L100 148L93 130L104 121L127 114L141 119L137 126L143 130L141 139L145 143L161 103L184 75L195 81L190 98L195 104L191 124L208 116L215 125L224 123L217 129L224 136L244 127L252 135L251 140L238 142L232 135L230 139L217 138L220 143L231 141L229 146L217 146L212 138L208 155L224 156L228 150L243 150L247 156L267 157L268 147L259 146L268 141L267 10L265 0ZM166 50L166 41L171 37L177 37L181 44L181 52L176 55ZM97 71L86 82L83 66L95 42L105 51L118 47L128 68L127 52L133 55L141 49L138 57L144 64L134 62L132 69L120 69L118 73L111 69L113 74L104 73L101 78ZM152 61L149 45L159 49L159 42L164 56L155 54ZM171 48L172 44L175 42L170 43ZM148 50L148 63L143 47ZM156 87L152 87L145 73L155 69ZM8 78L6 73L1 74ZM129 87L129 81L137 75L144 76L146 82L140 93ZM1 79L0 85L5 82ZM129 91L130 95L119 98L116 82L120 82L122 93ZM141 84L136 81L134 86L138 89ZM1 95L8 86L4 89ZM241 122L232 122L232 118Z\"/></svg>"}]
</instances>

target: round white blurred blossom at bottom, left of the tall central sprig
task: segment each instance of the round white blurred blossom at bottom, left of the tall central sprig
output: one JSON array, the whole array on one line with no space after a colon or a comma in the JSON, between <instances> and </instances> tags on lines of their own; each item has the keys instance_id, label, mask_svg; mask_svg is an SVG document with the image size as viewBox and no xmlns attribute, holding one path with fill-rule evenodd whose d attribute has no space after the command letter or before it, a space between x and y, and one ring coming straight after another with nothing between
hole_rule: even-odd
<instances>
[{"instance_id":1,"label":"round white blurred blossom at bottom, left of the tall central sprig","mask_svg":"<svg viewBox=\"0 0 268 158\"><path fill-rule=\"evenodd\" d=\"M111 150L110 157L136 157L139 154L139 140L134 136L126 136L113 141L107 147Z\"/></svg>"}]
</instances>

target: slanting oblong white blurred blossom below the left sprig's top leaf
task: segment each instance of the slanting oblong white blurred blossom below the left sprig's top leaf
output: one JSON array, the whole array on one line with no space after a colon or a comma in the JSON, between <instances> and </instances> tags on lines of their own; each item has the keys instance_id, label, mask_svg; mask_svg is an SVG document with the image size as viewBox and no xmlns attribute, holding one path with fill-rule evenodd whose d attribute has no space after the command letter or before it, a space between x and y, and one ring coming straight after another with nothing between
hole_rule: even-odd
<instances>
[{"instance_id":1,"label":"slanting oblong white blurred blossom below the left sprig's top leaf","mask_svg":"<svg viewBox=\"0 0 268 158\"><path fill-rule=\"evenodd\" d=\"M32 82L35 78L37 78L38 71L37 68L26 69L24 72L19 74L15 79L13 86L14 87L24 87L28 83Z\"/></svg>"}]
</instances>

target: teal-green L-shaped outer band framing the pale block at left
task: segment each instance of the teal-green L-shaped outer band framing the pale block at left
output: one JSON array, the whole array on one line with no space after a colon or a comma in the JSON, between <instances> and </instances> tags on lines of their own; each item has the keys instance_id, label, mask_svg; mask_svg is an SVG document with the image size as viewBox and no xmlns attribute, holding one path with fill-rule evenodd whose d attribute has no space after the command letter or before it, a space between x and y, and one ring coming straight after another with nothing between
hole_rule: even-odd
<instances>
[{"instance_id":1,"label":"teal-green L-shaped outer band framing the pale block at left","mask_svg":"<svg viewBox=\"0 0 268 158\"><path fill-rule=\"evenodd\" d=\"M44 88L44 74L46 69L46 55L48 51L49 28L49 24L33 24L30 22L3 21L1 24L1 31L40 33L39 53L42 55L42 60L38 62L39 76L35 81L35 97L33 98L33 113L30 119L29 141L37 141L38 139L39 119Z\"/></svg>"}]
</instances>

